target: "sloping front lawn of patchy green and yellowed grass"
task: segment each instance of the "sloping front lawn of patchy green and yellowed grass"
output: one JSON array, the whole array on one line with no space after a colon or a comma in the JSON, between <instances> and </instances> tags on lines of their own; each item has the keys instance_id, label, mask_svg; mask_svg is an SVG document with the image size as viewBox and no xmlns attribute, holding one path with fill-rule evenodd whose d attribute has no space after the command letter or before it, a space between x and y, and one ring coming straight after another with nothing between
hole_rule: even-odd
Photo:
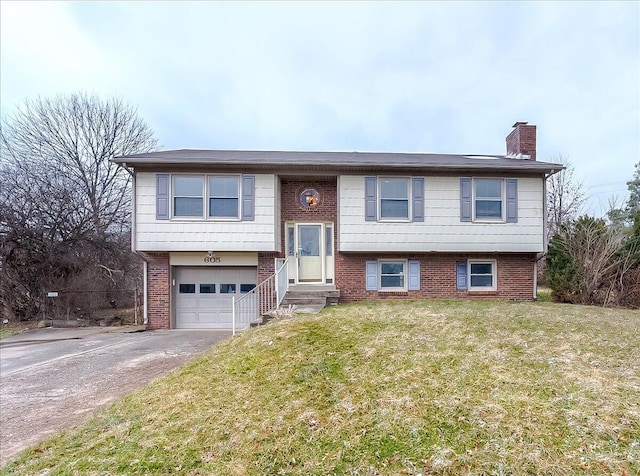
<instances>
[{"instance_id":1,"label":"sloping front lawn of patchy green and yellowed grass","mask_svg":"<svg viewBox=\"0 0 640 476\"><path fill-rule=\"evenodd\" d=\"M640 474L640 316L367 302L240 334L2 474Z\"/></svg>"}]
</instances>

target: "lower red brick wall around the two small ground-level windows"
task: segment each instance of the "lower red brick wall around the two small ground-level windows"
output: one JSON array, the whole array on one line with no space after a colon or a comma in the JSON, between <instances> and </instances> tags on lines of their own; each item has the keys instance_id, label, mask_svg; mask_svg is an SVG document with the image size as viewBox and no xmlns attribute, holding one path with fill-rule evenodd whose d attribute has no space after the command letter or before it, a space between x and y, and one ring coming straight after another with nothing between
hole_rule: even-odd
<instances>
[{"instance_id":1,"label":"lower red brick wall around the two small ground-level windows","mask_svg":"<svg viewBox=\"0 0 640 476\"><path fill-rule=\"evenodd\" d=\"M365 290L367 260L396 258L420 261L420 290L406 292L380 292ZM461 260L483 258L497 261L496 291L470 292L456 289L456 263ZM533 300L533 272L535 254L344 254L336 256L336 286L340 301L364 301L385 298L461 298Z\"/></svg>"}]
</instances>

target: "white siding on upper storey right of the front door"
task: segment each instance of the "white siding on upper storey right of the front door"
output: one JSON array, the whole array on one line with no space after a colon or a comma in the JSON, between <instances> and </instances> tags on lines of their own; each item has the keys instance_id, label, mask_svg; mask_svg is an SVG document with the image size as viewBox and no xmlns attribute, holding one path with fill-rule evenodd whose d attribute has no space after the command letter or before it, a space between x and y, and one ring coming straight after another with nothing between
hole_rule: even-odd
<instances>
[{"instance_id":1,"label":"white siding on upper storey right of the front door","mask_svg":"<svg viewBox=\"0 0 640 476\"><path fill-rule=\"evenodd\" d=\"M424 178L424 222L365 220L364 177L339 177L340 251L542 252L544 179L518 178L518 222L460 221L460 177Z\"/></svg>"}]
</instances>

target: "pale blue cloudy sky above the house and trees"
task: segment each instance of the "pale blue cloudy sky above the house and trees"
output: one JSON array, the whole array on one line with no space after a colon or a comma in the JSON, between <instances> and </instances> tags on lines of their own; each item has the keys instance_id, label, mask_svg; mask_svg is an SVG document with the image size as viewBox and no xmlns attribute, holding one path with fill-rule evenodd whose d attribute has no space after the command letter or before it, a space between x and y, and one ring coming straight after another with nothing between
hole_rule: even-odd
<instances>
[{"instance_id":1,"label":"pale blue cloudy sky above the house and trees","mask_svg":"<svg viewBox=\"0 0 640 476\"><path fill-rule=\"evenodd\" d=\"M568 158L600 215L640 161L640 2L0 2L0 114L76 92L162 149Z\"/></svg>"}]
</instances>

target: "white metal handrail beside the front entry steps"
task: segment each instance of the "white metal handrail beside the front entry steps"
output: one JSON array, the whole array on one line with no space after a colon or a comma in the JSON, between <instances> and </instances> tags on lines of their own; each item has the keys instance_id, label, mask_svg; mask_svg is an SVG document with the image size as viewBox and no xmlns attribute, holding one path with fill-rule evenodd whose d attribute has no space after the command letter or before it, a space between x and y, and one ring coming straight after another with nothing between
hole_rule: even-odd
<instances>
[{"instance_id":1,"label":"white metal handrail beside the front entry steps","mask_svg":"<svg viewBox=\"0 0 640 476\"><path fill-rule=\"evenodd\" d=\"M282 261L278 266L278 261ZM232 333L236 334L238 324L260 321L260 317L269 311L277 309L289 289L288 258L276 259L276 272L258 284L248 293L231 298Z\"/></svg>"}]
</instances>

